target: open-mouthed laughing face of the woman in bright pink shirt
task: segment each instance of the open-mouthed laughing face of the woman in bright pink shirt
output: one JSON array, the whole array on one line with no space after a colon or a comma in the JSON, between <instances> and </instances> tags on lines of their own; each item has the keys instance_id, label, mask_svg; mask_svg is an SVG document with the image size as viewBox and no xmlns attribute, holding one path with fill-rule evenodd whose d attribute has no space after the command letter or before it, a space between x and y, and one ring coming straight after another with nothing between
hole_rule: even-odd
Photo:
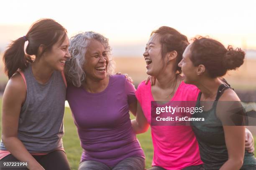
<instances>
[{"instance_id":1,"label":"open-mouthed laughing face of the woman in bright pink shirt","mask_svg":"<svg viewBox=\"0 0 256 170\"><path fill-rule=\"evenodd\" d=\"M157 33L152 35L148 40L143 56L147 64L146 73L156 77L163 68L160 36Z\"/></svg>"}]
</instances>

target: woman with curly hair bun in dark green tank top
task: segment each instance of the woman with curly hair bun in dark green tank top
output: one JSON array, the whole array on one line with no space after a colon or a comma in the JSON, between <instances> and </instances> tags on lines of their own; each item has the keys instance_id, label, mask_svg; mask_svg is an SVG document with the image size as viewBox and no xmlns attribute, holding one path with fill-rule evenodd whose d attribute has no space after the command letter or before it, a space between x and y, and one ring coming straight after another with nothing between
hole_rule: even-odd
<instances>
[{"instance_id":1,"label":"woman with curly hair bun in dark green tank top","mask_svg":"<svg viewBox=\"0 0 256 170\"><path fill-rule=\"evenodd\" d=\"M228 70L243 64L245 53L231 46L226 49L220 42L199 37L188 45L179 63L184 82L200 89L197 112L192 121L205 170L255 170L253 153L245 151L245 112L236 92L221 79Z\"/></svg>"}]
</instances>

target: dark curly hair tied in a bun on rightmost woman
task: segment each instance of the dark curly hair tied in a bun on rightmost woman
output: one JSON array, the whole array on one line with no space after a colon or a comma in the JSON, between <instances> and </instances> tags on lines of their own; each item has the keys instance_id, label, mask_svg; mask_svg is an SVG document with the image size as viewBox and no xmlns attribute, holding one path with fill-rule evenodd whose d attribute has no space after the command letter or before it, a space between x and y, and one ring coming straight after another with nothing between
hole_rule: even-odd
<instances>
[{"instance_id":1,"label":"dark curly hair tied in a bun on rightmost woman","mask_svg":"<svg viewBox=\"0 0 256 170\"><path fill-rule=\"evenodd\" d=\"M210 77L221 77L228 70L235 70L243 64L245 52L240 48L233 49L231 45L226 49L217 40L207 37L194 38L191 45L190 59L195 66L205 66Z\"/></svg>"}]
</instances>

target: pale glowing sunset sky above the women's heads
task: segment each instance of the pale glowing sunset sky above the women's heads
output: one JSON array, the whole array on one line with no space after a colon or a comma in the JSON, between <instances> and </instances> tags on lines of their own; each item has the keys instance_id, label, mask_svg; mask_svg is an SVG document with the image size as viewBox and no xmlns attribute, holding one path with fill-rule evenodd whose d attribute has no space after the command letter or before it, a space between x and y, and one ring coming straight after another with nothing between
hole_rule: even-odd
<instances>
[{"instance_id":1,"label":"pale glowing sunset sky above the women's heads","mask_svg":"<svg viewBox=\"0 0 256 170\"><path fill-rule=\"evenodd\" d=\"M40 18L52 18L68 30L99 32L113 55L142 55L152 30L166 25L192 38L209 35L224 45L256 50L254 0L5 0L0 2L0 50L26 35Z\"/></svg>"}]
</instances>

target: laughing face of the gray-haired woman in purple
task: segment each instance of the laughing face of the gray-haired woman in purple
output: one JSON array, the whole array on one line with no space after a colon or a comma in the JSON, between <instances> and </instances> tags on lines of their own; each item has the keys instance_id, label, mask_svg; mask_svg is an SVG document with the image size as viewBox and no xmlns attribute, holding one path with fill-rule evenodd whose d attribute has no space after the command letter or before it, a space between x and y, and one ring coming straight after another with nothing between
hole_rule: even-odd
<instances>
[{"instance_id":1,"label":"laughing face of the gray-haired woman in purple","mask_svg":"<svg viewBox=\"0 0 256 170\"><path fill-rule=\"evenodd\" d=\"M103 80L107 77L109 50L97 40L92 39L85 53L83 70L87 78Z\"/></svg>"}]
</instances>

